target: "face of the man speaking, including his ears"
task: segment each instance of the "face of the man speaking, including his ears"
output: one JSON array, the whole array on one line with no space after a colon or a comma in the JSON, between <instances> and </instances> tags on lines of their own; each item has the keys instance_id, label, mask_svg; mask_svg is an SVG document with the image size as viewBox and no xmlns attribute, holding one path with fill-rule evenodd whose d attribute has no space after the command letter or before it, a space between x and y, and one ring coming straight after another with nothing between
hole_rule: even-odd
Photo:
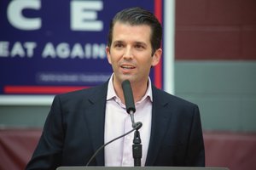
<instances>
[{"instance_id":1,"label":"face of the man speaking, including his ears","mask_svg":"<svg viewBox=\"0 0 256 170\"><path fill-rule=\"evenodd\" d=\"M145 83L151 66L160 61L161 49L152 56L150 26L131 26L116 22L113 26L113 41L106 48L108 63L113 67L113 81L121 83Z\"/></svg>"}]
</instances>

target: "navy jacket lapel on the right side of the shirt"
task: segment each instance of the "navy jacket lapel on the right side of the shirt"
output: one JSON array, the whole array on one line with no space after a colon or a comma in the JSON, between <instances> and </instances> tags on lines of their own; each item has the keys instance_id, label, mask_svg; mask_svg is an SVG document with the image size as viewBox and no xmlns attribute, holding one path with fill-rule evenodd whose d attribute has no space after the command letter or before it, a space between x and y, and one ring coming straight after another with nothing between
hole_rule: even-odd
<instances>
[{"instance_id":1,"label":"navy jacket lapel on the right side of the shirt","mask_svg":"<svg viewBox=\"0 0 256 170\"><path fill-rule=\"evenodd\" d=\"M170 111L166 109L168 101L159 95L159 90L153 86L153 107L151 136L148 145L146 166L153 166L155 158L160 150L160 145L166 133L166 127L170 122Z\"/></svg>"}]
</instances>

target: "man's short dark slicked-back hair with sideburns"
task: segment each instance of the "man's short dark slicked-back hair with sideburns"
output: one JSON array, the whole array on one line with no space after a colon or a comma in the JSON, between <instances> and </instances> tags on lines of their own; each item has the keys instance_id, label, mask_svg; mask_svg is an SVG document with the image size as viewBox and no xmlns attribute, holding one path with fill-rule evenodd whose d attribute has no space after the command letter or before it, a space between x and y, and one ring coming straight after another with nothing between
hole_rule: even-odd
<instances>
[{"instance_id":1,"label":"man's short dark slicked-back hair with sideburns","mask_svg":"<svg viewBox=\"0 0 256 170\"><path fill-rule=\"evenodd\" d=\"M131 26L147 25L151 28L150 42L155 50L160 48L162 39L162 26L154 14L140 7L125 8L117 13L110 22L108 31L108 47L111 46L113 38L113 26L116 22L129 23Z\"/></svg>"}]
</instances>

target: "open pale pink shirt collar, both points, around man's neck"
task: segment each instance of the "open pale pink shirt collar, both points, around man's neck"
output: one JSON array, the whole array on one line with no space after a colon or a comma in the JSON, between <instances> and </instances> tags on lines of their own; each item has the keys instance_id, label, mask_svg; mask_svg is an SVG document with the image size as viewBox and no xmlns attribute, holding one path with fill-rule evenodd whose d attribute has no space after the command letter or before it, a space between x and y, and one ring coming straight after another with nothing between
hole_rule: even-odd
<instances>
[{"instance_id":1,"label":"open pale pink shirt collar, both points, around man's neck","mask_svg":"<svg viewBox=\"0 0 256 170\"><path fill-rule=\"evenodd\" d=\"M153 102L153 95L152 95L152 84L151 84L151 80L150 77L148 77L148 89L146 94L143 96L143 98L138 101L137 103L141 103L144 99L149 98L151 100L151 102ZM109 99L113 99L113 98L118 98L117 94L114 91L113 88L113 74L111 75L109 81L108 81L108 94L107 94L107 100Z\"/></svg>"}]
</instances>

